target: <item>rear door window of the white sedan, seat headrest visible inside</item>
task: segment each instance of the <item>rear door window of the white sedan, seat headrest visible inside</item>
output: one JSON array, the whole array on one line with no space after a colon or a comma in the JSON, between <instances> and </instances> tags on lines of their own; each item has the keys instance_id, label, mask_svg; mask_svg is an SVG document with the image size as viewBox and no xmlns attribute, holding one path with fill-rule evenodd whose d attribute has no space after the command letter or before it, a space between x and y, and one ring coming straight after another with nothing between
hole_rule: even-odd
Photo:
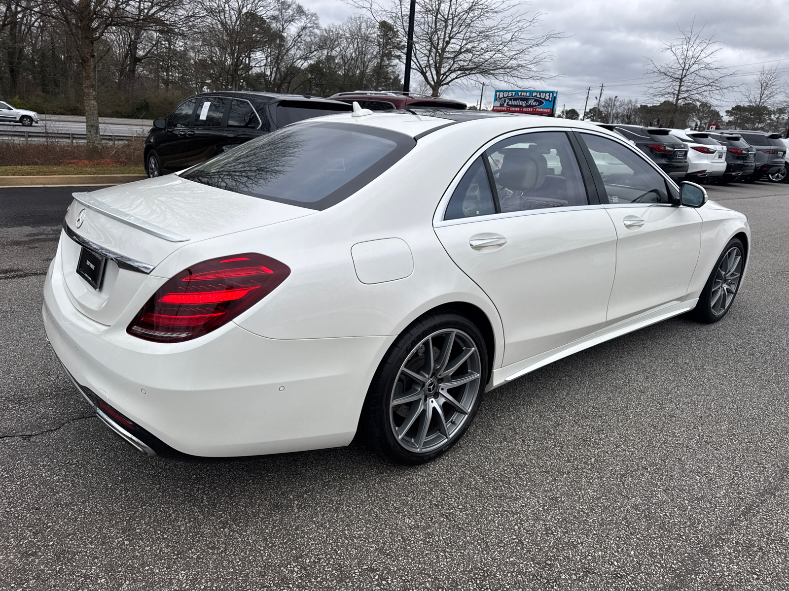
<instances>
[{"instance_id":1,"label":"rear door window of the white sedan, seat headrest visible inside","mask_svg":"<svg viewBox=\"0 0 789 591\"><path fill-rule=\"evenodd\" d=\"M588 205L586 188L564 132L527 133L485 151L502 212Z\"/></svg>"}]
</instances>

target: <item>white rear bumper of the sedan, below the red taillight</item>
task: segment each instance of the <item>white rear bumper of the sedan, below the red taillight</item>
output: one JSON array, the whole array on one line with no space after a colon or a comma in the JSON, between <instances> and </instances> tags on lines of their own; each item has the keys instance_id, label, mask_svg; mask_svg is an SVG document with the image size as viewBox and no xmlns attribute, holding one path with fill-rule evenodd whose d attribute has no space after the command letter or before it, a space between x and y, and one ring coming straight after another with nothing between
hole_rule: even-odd
<instances>
[{"instance_id":1,"label":"white rear bumper of the sedan, below the red taillight","mask_svg":"<svg viewBox=\"0 0 789 591\"><path fill-rule=\"evenodd\" d=\"M231 322L186 343L149 343L81 314L57 269L53 262L44 286L47 339L99 418L146 453L143 446L223 457L349 444L395 338L275 340Z\"/></svg>"}]
</instances>

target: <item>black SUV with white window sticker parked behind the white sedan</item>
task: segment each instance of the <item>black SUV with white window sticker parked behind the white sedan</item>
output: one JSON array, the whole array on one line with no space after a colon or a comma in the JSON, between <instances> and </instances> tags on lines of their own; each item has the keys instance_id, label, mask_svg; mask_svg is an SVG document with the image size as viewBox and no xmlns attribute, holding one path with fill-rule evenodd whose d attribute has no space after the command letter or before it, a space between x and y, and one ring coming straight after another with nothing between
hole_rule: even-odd
<instances>
[{"instance_id":1,"label":"black SUV with white window sticker parked behind the white sedan","mask_svg":"<svg viewBox=\"0 0 789 591\"><path fill-rule=\"evenodd\" d=\"M148 177L188 168L239 143L302 119L346 113L346 102L271 92L204 92L190 96L166 119L155 119L145 139Z\"/></svg>"}]
</instances>

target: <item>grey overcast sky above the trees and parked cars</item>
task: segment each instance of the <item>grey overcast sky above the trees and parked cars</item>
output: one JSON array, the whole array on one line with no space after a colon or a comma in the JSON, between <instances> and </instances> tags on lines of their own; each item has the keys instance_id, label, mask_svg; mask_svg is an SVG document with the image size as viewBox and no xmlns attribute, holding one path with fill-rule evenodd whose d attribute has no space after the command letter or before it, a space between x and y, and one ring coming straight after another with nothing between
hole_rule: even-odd
<instances>
[{"instance_id":1,"label":"grey overcast sky above the trees and parked cars","mask_svg":"<svg viewBox=\"0 0 789 591\"><path fill-rule=\"evenodd\" d=\"M342 22L355 13L342 0L300 1L318 13L321 24ZM545 30L567 35L549 46L555 57L548 70L561 76L522 85L559 91L559 109L566 104L580 112L589 86L593 106L600 83L605 84L604 98L642 99L645 58L662 60L661 42L675 39L678 24L686 28L694 17L697 25L705 25L705 35L724 43L720 63L742 72L732 83L750 83L762 65L784 69L784 80L789 73L789 0L536 0L524 9L544 13ZM486 102L492 102L493 90L486 87ZM444 95L473 103L479 93L479 87L452 87ZM735 91L717 107L723 113L737 102L742 100Z\"/></svg>"}]
</instances>

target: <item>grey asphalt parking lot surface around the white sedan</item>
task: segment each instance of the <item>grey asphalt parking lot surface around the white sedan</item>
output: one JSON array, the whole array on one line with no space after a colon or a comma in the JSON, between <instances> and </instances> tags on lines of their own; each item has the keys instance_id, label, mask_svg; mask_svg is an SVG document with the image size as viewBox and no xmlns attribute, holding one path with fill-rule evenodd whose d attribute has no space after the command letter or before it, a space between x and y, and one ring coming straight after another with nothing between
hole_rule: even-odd
<instances>
[{"instance_id":1,"label":"grey asphalt parking lot surface around the white sedan","mask_svg":"<svg viewBox=\"0 0 789 591\"><path fill-rule=\"evenodd\" d=\"M43 336L71 191L0 189L0 589L789 589L789 184L715 325L675 318L513 381L447 455L148 459Z\"/></svg>"}]
</instances>

